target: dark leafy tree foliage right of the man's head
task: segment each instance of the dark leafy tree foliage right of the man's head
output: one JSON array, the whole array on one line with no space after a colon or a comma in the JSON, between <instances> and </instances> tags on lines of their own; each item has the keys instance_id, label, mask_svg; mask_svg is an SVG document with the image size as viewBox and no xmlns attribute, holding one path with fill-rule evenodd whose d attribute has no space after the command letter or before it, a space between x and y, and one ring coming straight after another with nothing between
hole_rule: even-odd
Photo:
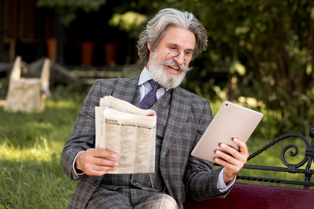
<instances>
[{"instance_id":1,"label":"dark leafy tree foliage right of the man's head","mask_svg":"<svg viewBox=\"0 0 314 209\"><path fill-rule=\"evenodd\" d=\"M200 61L206 70L197 71L202 92L210 74L225 69L229 99L262 100L281 111L278 129L307 132L314 119L313 1L194 1L190 7L209 36Z\"/></svg>"}]
</instances>

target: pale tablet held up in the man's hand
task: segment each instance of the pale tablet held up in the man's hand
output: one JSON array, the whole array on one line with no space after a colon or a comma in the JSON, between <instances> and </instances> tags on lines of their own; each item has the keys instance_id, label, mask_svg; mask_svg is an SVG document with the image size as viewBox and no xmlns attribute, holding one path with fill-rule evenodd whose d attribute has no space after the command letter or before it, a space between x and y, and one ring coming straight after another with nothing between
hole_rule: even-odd
<instances>
[{"instance_id":1,"label":"pale tablet held up in the man's hand","mask_svg":"<svg viewBox=\"0 0 314 209\"><path fill-rule=\"evenodd\" d=\"M232 139L236 137L246 142L263 116L255 110L225 101L191 155L214 162L214 157L217 157L215 150L220 149L220 143L239 150Z\"/></svg>"}]
</instances>

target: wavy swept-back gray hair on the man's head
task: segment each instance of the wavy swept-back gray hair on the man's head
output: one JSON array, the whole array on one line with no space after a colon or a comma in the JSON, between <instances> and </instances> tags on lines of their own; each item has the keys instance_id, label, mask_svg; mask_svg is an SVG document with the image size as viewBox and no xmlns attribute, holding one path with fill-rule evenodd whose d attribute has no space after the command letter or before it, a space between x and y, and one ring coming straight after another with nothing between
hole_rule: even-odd
<instances>
[{"instance_id":1,"label":"wavy swept-back gray hair on the man's head","mask_svg":"<svg viewBox=\"0 0 314 209\"><path fill-rule=\"evenodd\" d=\"M139 35L136 47L138 56L142 62L146 63L149 58L147 43L150 44L151 50L154 51L170 27L186 29L195 35L194 57L206 50L207 34L200 21L192 13L187 11L183 12L177 9L166 8L159 11L158 14L148 21L146 28Z\"/></svg>"}]
</instances>

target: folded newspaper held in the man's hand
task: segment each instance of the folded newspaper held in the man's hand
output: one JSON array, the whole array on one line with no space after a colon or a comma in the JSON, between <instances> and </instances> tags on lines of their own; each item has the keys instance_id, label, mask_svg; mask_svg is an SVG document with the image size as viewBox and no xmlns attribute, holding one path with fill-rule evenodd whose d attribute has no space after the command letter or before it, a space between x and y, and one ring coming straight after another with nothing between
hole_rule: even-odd
<instances>
[{"instance_id":1,"label":"folded newspaper held in the man's hand","mask_svg":"<svg viewBox=\"0 0 314 209\"><path fill-rule=\"evenodd\" d=\"M119 166L107 173L153 173L156 112L105 96L95 107L95 148L118 154Z\"/></svg>"}]
</instances>

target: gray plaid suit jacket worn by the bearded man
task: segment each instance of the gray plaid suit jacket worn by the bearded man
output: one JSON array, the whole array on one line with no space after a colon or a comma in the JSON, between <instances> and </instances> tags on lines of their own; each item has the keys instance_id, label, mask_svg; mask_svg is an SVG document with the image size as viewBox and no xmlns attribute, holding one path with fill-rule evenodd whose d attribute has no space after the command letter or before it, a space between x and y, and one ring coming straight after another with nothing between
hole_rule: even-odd
<instances>
[{"instance_id":1,"label":"gray plaid suit jacket worn by the bearded man","mask_svg":"<svg viewBox=\"0 0 314 209\"><path fill-rule=\"evenodd\" d=\"M138 79L139 76L98 79L87 94L61 154L65 173L70 179L79 179L69 209L85 208L102 179L102 176L85 174L77 177L72 170L77 153L94 147L95 106L99 106L101 97L112 95L139 107ZM209 101L180 87L171 91L171 109L160 155L161 173L169 194L177 200L179 208L183 208L187 195L196 201L225 197L231 188L224 193L217 189L220 169L213 170L212 162L191 156L192 149L212 120ZM156 112L158 114L158 110Z\"/></svg>"}]
</instances>

